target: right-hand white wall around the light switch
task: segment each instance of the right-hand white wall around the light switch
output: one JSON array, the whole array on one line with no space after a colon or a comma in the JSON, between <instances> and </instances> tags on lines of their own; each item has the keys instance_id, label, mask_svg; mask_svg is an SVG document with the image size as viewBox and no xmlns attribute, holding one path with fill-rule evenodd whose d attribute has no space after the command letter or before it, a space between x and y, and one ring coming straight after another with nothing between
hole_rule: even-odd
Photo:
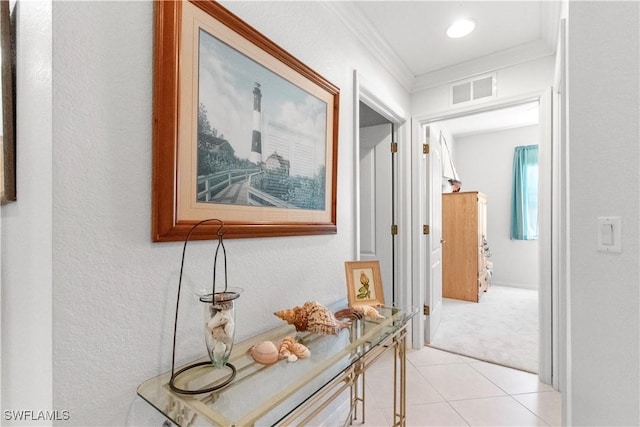
<instances>
[{"instance_id":1,"label":"right-hand white wall around the light switch","mask_svg":"<svg viewBox=\"0 0 640 427\"><path fill-rule=\"evenodd\" d=\"M572 425L638 425L640 3L569 2ZM621 216L622 254L596 251Z\"/></svg>"}]
</instances>

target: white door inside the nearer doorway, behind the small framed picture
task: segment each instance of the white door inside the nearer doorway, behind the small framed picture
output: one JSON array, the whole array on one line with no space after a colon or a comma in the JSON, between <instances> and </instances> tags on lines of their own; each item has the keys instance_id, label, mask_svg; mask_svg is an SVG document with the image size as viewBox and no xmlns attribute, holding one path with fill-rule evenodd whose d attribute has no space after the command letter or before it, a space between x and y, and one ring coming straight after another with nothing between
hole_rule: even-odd
<instances>
[{"instance_id":1,"label":"white door inside the nearer doorway, behind the small framed picture","mask_svg":"<svg viewBox=\"0 0 640 427\"><path fill-rule=\"evenodd\" d=\"M391 124L360 129L360 259L380 261L385 303L393 298Z\"/></svg>"}]
</instances>

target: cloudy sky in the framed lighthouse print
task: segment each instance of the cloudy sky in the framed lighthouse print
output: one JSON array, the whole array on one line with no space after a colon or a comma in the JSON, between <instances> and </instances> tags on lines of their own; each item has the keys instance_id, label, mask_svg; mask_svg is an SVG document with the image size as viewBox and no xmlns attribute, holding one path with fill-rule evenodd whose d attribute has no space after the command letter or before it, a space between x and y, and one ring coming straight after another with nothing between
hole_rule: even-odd
<instances>
[{"instance_id":1,"label":"cloudy sky in the framed lighthouse print","mask_svg":"<svg viewBox=\"0 0 640 427\"><path fill-rule=\"evenodd\" d=\"M249 158L251 151L256 82L262 91L262 122L317 135L316 164L324 165L327 104L200 30L199 103L207 109L211 127L224 135L239 158Z\"/></svg>"}]
</instances>

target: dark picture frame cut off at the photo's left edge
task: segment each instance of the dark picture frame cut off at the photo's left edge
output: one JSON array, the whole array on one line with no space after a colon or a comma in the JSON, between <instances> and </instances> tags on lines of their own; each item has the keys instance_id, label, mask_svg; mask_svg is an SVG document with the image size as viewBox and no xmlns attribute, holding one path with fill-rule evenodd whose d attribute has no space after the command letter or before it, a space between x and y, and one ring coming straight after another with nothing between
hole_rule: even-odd
<instances>
[{"instance_id":1,"label":"dark picture frame cut off at the photo's left edge","mask_svg":"<svg viewBox=\"0 0 640 427\"><path fill-rule=\"evenodd\" d=\"M15 13L8 1L0 3L2 67L2 134L0 135L0 204L15 202L16 191L16 38Z\"/></svg>"}]
</instances>

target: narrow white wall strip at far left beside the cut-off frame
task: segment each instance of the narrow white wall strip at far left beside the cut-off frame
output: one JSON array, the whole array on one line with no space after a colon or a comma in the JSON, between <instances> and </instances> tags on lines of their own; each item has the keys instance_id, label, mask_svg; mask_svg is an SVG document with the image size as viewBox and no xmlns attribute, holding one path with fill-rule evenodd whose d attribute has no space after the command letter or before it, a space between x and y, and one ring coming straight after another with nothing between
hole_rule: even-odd
<instances>
[{"instance_id":1,"label":"narrow white wall strip at far left beside the cut-off frame","mask_svg":"<svg viewBox=\"0 0 640 427\"><path fill-rule=\"evenodd\" d=\"M20 4L17 197L2 214L2 425L5 411L52 408L51 3Z\"/></svg>"}]
</instances>

